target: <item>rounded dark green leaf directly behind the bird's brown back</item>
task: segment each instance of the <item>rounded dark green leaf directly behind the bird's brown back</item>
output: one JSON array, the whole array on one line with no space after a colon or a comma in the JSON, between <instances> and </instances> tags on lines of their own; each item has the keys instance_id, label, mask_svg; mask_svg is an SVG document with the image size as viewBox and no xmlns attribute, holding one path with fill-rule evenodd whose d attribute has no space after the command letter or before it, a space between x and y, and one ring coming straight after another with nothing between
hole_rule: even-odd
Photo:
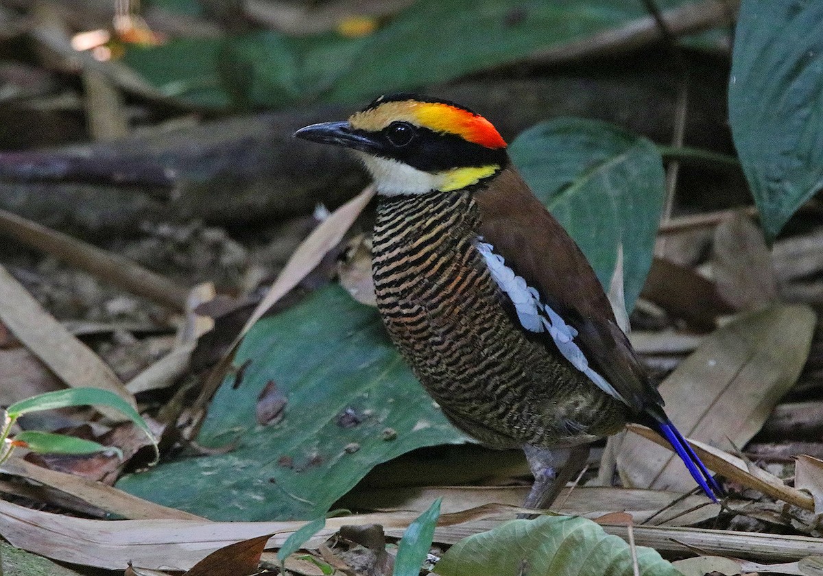
<instances>
[{"instance_id":1,"label":"rounded dark green leaf directly behind the bird's brown back","mask_svg":"<svg viewBox=\"0 0 823 576\"><path fill-rule=\"evenodd\" d=\"M609 286L622 244L625 304L631 311L652 265L666 195L656 147L608 123L556 118L520 134L509 154L603 286Z\"/></svg>"}]
</instances>

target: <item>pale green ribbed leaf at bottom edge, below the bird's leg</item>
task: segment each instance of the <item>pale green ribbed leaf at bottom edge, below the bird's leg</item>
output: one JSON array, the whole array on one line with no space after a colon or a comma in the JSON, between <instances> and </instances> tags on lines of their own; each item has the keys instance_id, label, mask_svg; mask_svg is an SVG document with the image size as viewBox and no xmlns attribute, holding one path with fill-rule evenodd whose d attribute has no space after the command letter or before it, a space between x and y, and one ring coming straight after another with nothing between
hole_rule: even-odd
<instances>
[{"instance_id":1,"label":"pale green ribbed leaf at bottom edge, below the bird's leg","mask_svg":"<svg viewBox=\"0 0 823 576\"><path fill-rule=\"evenodd\" d=\"M682 576L657 551L637 547L642 576ZM629 545L586 518L542 516L512 520L467 537L437 563L440 576L564 574L632 576Z\"/></svg>"}]
</instances>

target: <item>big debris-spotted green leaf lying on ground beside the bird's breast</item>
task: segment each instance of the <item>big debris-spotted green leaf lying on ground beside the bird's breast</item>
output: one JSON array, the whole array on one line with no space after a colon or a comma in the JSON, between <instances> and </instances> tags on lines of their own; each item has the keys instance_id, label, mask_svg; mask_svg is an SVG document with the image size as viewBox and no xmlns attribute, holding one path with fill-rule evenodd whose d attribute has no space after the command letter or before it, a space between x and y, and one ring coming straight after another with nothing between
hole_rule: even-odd
<instances>
[{"instance_id":1,"label":"big debris-spotted green leaf lying on ground beside the bird's breast","mask_svg":"<svg viewBox=\"0 0 823 576\"><path fill-rule=\"evenodd\" d=\"M242 377L218 390L198 441L236 448L161 464L119 488L214 520L317 518L380 462L465 441L376 311L339 286L255 324L235 366ZM255 408L268 383L286 402L284 417L260 425Z\"/></svg>"}]
</instances>

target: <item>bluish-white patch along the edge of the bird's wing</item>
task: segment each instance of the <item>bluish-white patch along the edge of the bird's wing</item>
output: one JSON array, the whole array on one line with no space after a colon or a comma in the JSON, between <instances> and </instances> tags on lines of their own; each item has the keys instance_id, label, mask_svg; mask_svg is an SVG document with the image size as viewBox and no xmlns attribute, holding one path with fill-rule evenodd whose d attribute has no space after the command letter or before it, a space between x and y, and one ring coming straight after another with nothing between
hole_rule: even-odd
<instances>
[{"instance_id":1,"label":"bluish-white patch along the edge of the bird's wing","mask_svg":"<svg viewBox=\"0 0 823 576\"><path fill-rule=\"evenodd\" d=\"M497 286L500 286L500 290L503 290L514 304L518 320L523 327L529 332L548 332L560 354L569 360L574 368L585 374L597 388L628 404L606 379L588 365L583 351L574 343L574 338L578 335L577 330L565 323L551 306L543 304L537 290L528 286L523 276L518 276L506 265L504 258L494 252L494 246L483 242L481 238L477 242L477 251L486 260L486 266L489 267L491 277L497 282Z\"/></svg>"}]
</instances>

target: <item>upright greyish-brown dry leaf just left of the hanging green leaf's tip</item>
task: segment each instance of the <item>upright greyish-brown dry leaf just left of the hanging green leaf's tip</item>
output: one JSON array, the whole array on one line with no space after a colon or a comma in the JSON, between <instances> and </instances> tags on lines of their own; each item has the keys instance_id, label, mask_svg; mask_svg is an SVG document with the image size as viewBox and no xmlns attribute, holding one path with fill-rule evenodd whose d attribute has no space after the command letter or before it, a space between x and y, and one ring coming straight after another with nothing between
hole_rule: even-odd
<instances>
[{"instance_id":1,"label":"upright greyish-brown dry leaf just left of the hanging green leaf's tip","mask_svg":"<svg viewBox=\"0 0 823 576\"><path fill-rule=\"evenodd\" d=\"M777 278L763 232L738 212L714 233L714 282L718 294L740 310L777 300Z\"/></svg>"}]
</instances>

